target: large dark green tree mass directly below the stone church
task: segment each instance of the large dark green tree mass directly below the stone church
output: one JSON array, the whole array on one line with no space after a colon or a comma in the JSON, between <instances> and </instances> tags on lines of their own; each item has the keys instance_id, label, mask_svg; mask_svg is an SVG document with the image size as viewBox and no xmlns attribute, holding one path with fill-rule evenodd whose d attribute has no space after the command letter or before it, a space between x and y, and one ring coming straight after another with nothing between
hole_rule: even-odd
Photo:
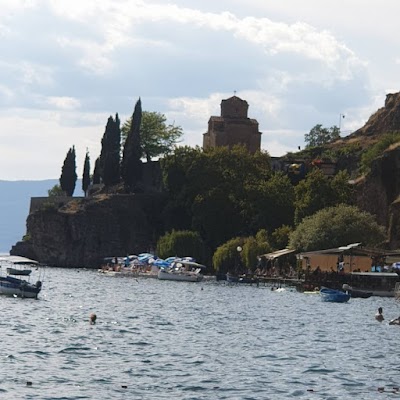
<instances>
[{"instance_id":1,"label":"large dark green tree mass directly below the stone church","mask_svg":"<svg viewBox=\"0 0 400 400\"><path fill-rule=\"evenodd\" d=\"M186 223L185 229L200 232L211 249L263 227L254 210L265 206L257 185L272 176L267 153L252 155L242 146L207 151L178 148L161 165L170 206L165 210L174 213L166 220ZM287 191L282 192L274 202L288 197ZM270 215L272 220L273 210Z\"/></svg>"}]
</instances>

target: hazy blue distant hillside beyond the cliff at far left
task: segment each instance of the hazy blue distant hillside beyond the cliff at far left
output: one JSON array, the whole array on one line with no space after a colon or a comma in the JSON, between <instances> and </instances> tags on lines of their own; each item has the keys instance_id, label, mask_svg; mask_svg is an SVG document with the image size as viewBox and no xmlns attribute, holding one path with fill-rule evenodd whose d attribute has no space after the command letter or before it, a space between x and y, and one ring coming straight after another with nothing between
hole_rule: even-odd
<instances>
[{"instance_id":1,"label":"hazy blue distant hillside beyond the cliff at far left","mask_svg":"<svg viewBox=\"0 0 400 400\"><path fill-rule=\"evenodd\" d=\"M56 184L58 184L58 179L0 180L0 253L8 253L11 246L25 235L30 198L47 196L47 191ZM79 182L76 184L75 194L81 195Z\"/></svg>"}]
</instances>

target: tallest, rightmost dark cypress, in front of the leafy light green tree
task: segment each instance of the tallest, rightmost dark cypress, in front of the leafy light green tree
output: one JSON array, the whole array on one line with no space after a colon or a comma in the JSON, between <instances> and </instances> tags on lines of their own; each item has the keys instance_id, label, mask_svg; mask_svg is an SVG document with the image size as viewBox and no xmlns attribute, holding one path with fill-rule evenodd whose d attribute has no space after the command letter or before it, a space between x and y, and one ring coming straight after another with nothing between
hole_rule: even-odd
<instances>
[{"instance_id":1,"label":"tallest, rightmost dark cypress, in front of the leafy light green tree","mask_svg":"<svg viewBox=\"0 0 400 400\"><path fill-rule=\"evenodd\" d=\"M121 176L124 181L125 190L128 193L137 191L142 180L142 149L140 145L140 124L142 121L142 103L136 102L132 115L131 129L124 145L121 165Z\"/></svg>"}]
</instances>

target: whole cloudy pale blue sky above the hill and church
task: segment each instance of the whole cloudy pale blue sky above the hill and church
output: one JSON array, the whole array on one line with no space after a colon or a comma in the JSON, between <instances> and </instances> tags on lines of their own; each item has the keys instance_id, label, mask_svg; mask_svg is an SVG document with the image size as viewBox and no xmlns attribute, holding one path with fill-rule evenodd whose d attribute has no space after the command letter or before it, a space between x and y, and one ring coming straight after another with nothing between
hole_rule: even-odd
<instances>
[{"instance_id":1,"label":"whole cloudy pale blue sky above the hill and church","mask_svg":"<svg viewBox=\"0 0 400 400\"><path fill-rule=\"evenodd\" d=\"M234 94L271 156L362 127L396 93L397 0L0 0L0 179L93 168L110 115L142 109L202 146ZM343 117L344 116L344 117Z\"/></svg>"}]
</instances>

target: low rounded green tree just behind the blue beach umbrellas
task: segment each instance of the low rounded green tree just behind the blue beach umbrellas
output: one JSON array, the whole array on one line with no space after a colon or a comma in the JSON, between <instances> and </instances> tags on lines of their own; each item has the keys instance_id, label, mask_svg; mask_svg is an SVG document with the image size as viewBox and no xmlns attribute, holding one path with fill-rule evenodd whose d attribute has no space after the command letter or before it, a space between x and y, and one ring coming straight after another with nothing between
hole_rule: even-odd
<instances>
[{"instance_id":1,"label":"low rounded green tree just behind the blue beach umbrellas","mask_svg":"<svg viewBox=\"0 0 400 400\"><path fill-rule=\"evenodd\" d=\"M207 249L198 232L175 231L161 236L157 242L157 254L161 258L185 257L190 254L196 261L207 263Z\"/></svg>"}]
</instances>

